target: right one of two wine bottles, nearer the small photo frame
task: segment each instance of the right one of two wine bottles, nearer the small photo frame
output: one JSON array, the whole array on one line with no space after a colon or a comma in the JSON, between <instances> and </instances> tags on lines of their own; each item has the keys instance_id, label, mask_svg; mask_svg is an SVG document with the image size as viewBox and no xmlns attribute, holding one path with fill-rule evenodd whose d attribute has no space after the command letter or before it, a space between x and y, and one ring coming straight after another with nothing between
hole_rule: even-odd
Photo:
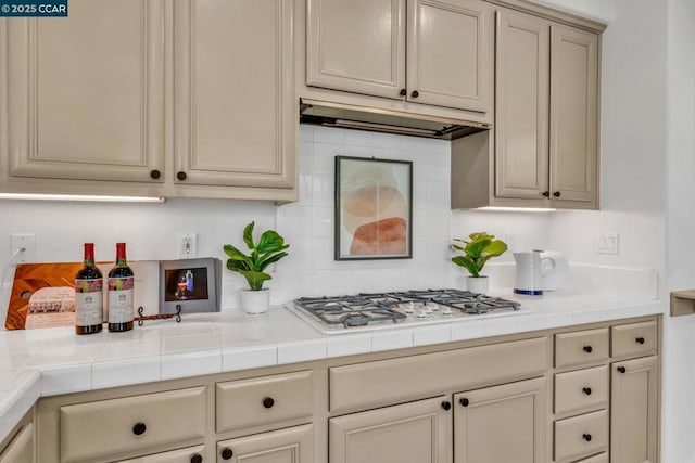
<instances>
[{"instance_id":1,"label":"right one of two wine bottles, nearer the small photo frame","mask_svg":"<svg viewBox=\"0 0 695 463\"><path fill-rule=\"evenodd\" d=\"M109 331L132 330L135 278L126 261L126 244L116 243L116 265L109 272Z\"/></svg>"}]
</instances>

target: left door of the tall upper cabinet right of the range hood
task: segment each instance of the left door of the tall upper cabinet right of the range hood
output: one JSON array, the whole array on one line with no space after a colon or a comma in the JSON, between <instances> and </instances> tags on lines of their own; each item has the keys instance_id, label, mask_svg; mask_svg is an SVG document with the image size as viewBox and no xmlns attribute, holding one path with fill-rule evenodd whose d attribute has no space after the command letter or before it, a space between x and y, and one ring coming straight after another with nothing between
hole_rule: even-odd
<instances>
[{"instance_id":1,"label":"left door of the tall upper cabinet right of the range hood","mask_svg":"<svg viewBox=\"0 0 695 463\"><path fill-rule=\"evenodd\" d=\"M542 198L548 191L551 24L497 11L496 195Z\"/></svg>"}]
</instances>

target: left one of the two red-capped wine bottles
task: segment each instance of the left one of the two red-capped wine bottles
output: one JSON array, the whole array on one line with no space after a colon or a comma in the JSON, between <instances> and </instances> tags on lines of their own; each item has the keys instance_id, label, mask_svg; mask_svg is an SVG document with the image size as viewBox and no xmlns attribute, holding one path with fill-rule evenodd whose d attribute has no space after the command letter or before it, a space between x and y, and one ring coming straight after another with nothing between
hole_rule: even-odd
<instances>
[{"instance_id":1,"label":"left one of the two red-capped wine bottles","mask_svg":"<svg viewBox=\"0 0 695 463\"><path fill-rule=\"evenodd\" d=\"M103 283L94 266L94 243L85 243L85 267L75 275L75 333L93 334L103 329Z\"/></svg>"}]
</instances>

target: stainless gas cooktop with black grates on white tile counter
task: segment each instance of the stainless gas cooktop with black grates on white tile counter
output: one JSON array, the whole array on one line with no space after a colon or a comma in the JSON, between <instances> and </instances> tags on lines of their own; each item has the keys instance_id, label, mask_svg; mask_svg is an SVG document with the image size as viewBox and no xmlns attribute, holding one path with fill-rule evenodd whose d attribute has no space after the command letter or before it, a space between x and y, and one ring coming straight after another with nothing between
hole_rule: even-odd
<instances>
[{"instance_id":1,"label":"stainless gas cooktop with black grates on white tile counter","mask_svg":"<svg viewBox=\"0 0 695 463\"><path fill-rule=\"evenodd\" d=\"M288 308L326 334L528 312L519 303L459 290L300 297Z\"/></svg>"}]
</instances>

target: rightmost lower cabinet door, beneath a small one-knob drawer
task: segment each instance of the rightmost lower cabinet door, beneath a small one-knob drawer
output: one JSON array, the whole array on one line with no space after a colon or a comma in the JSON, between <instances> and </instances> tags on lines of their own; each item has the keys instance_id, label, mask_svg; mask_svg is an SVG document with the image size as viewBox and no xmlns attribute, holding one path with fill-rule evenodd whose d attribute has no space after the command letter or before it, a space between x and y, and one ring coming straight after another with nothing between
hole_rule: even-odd
<instances>
[{"instance_id":1,"label":"rightmost lower cabinet door, beneath a small one-knob drawer","mask_svg":"<svg viewBox=\"0 0 695 463\"><path fill-rule=\"evenodd\" d=\"M656 463L658 358L611 366L610 461Z\"/></svg>"}]
</instances>

